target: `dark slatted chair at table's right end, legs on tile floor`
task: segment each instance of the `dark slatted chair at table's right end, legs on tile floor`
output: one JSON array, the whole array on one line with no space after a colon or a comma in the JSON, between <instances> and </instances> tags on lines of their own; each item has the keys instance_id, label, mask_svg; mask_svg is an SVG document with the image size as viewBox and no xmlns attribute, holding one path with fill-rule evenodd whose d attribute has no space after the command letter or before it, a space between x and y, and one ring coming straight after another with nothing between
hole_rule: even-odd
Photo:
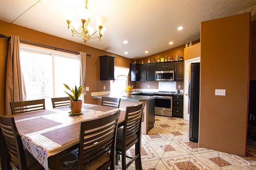
<instances>
[{"instance_id":1,"label":"dark slatted chair at table's right end, legs on tile floor","mask_svg":"<svg viewBox=\"0 0 256 170\"><path fill-rule=\"evenodd\" d=\"M116 165L122 155L122 170L126 170L135 160L136 170L142 170L141 164L141 122L145 102L126 107L124 126L118 128L116 135ZM134 157L126 155L126 150L135 145ZM131 160L126 164L126 157Z\"/></svg>"}]
</instances>

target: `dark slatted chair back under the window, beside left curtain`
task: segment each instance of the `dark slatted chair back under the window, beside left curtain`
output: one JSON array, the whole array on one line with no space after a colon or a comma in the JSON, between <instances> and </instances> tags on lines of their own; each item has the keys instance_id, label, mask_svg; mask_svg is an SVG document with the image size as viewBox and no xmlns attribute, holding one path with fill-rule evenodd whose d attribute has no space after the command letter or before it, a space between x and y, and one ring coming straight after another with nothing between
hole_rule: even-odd
<instances>
[{"instance_id":1,"label":"dark slatted chair back under the window, beside left curtain","mask_svg":"<svg viewBox=\"0 0 256 170\"><path fill-rule=\"evenodd\" d=\"M45 100L29 100L23 102L10 102L12 114L26 113L30 111L44 110Z\"/></svg>"}]
</instances>

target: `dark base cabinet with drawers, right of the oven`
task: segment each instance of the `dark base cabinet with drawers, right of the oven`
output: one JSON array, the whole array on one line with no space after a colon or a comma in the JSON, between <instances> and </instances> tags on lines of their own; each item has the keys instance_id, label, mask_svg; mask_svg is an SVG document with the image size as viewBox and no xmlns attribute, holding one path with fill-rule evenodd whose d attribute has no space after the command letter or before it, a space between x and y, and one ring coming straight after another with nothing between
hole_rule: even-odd
<instances>
[{"instance_id":1,"label":"dark base cabinet with drawers, right of the oven","mask_svg":"<svg viewBox=\"0 0 256 170\"><path fill-rule=\"evenodd\" d=\"M173 95L172 97L172 117L183 118L183 96Z\"/></svg>"}]
</instances>

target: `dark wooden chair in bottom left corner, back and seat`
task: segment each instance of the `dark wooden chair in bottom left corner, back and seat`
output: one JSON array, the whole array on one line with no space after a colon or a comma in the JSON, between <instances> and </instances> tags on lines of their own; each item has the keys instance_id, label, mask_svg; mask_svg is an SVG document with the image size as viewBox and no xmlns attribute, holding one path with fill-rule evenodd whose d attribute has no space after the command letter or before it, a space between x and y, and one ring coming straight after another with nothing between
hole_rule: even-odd
<instances>
[{"instance_id":1,"label":"dark wooden chair in bottom left corner, back and seat","mask_svg":"<svg viewBox=\"0 0 256 170\"><path fill-rule=\"evenodd\" d=\"M44 170L41 164L23 148L14 117L0 115L2 170Z\"/></svg>"}]
</instances>

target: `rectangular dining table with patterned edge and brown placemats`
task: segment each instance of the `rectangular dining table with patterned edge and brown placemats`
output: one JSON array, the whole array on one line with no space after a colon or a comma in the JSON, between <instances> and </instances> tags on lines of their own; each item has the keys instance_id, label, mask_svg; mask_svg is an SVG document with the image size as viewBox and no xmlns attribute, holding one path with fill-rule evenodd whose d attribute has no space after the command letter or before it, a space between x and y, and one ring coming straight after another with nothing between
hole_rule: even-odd
<instances>
[{"instance_id":1,"label":"rectangular dining table with patterned edge and brown placemats","mask_svg":"<svg viewBox=\"0 0 256 170\"><path fill-rule=\"evenodd\" d=\"M46 170L59 170L60 156L78 148L80 121L100 117L119 108L84 104L82 114L70 108L33 111L13 115L23 146ZM118 127L124 123L125 111L120 109Z\"/></svg>"}]
</instances>

